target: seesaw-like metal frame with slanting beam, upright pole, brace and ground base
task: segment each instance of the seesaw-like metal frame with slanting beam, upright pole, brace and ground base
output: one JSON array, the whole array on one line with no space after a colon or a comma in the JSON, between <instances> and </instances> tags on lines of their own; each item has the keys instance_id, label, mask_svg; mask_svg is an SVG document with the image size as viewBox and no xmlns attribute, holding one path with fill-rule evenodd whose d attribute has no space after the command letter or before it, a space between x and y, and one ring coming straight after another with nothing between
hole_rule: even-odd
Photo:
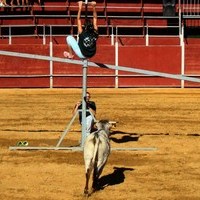
<instances>
[{"instance_id":1,"label":"seesaw-like metal frame with slanting beam, upright pole, brace and ground base","mask_svg":"<svg viewBox=\"0 0 200 200\"><path fill-rule=\"evenodd\" d=\"M85 140L86 135L86 104L85 104L85 96L87 91L87 68L88 66L92 67L98 67L98 68L107 68L107 69L117 69L121 71L127 71L127 72L136 72L141 74L147 74L147 75L154 75L159 77L165 77L165 78L172 78L172 79L178 79L178 80L185 80L185 81L191 81L191 82L198 82L200 83L199 78L193 78L193 77L186 77L184 75L175 75L175 74L168 74L168 73L162 73L162 72L155 72L150 70L142 70L137 68L129 68L129 67L123 67L123 66L115 66L115 65L108 65L108 64L102 64L102 63L94 63L89 62L88 60L70 60L70 59L64 59L64 58L58 58L58 57L51 57L51 56L43 56L43 55L34 55L34 54L27 54L27 53L18 53L18 52L9 52L9 51L1 51L0 55L6 55L6 56L17 56L17 57L23 57L23 58L29 58L29 59L39 59L39 60L46 60L46 61L55 61L55 62L63 62L63 63L73 63L77 65L83 65L83 91L82 91L82 138L81 138L81 146L79 147L60 147L60 143L64 139L64 136L66 135L67 131L69 130L69 127L71 126L71 123L75 119L71 120L68 127L63 132L63 136L59 140L58 144L54 147L10 147L10 150L73 150L73 151L82 151L83 150L83 143ZM132 151L152 151L156 150L156 148L112 148L112 150L132 150Z\"/></svg>"}]
</instances>

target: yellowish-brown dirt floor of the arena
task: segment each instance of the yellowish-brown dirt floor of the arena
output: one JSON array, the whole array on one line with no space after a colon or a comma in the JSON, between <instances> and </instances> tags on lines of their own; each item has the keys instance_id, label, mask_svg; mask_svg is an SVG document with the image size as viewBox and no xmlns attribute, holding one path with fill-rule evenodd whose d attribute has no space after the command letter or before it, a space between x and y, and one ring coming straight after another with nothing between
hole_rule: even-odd
<instances>
[{"instance_id":1,"label":"yellowish-brown dirt floor of the arena","mask_svg":"<svg viewBox=\"0 0 200 200\"><path fill-rule=\"evenodd\" d=\"M117 121L95 200L200 199L199 89L88 89L97 118ZM81 89L0 90L0 199L81 200L82 151L10 150L18 141L55 146ZM78 119L61 146L77 146ZM155 148L151 151L145 148Z\"/></svg>"}]
</instances>

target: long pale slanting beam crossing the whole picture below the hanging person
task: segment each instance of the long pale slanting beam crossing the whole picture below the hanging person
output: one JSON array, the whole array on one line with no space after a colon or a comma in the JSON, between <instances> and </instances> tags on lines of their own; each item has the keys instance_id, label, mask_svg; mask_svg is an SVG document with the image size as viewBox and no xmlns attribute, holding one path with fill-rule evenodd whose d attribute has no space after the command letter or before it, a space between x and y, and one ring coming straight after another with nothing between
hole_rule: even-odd
<instances>
[{"instance_id":1,"label":"long pale slanting beam crossing the whole picture below the hanging person","mask_svg":"<svg viewBox=\"0 0 200 200\"><path fill-rule=\"evenodd\" d=\"M71 60L71 59L66 59L66 58L42 56L42 55L28 54L28 53L18 53L18 52L0 50L0 55L83 65L83 61L81 60ZM150 71L150 70L143 70L143 69L138 69L138 68L115 66L115 65L103 64L103 63L97 63L97 62L88 62L88 66L107 68L107 69L113 69L113 70L121 70L121 71L126 71L126 72L134 72L134 73L139 73L139 74L159 76L159 77L164 77L164 78L171 78L171 79L178 79L178 80L200 83L199 78L193 78L193 77L169 74L169 73L163 73L163 72L156 72L156 71Z\"/></svg>"}]
</instances>

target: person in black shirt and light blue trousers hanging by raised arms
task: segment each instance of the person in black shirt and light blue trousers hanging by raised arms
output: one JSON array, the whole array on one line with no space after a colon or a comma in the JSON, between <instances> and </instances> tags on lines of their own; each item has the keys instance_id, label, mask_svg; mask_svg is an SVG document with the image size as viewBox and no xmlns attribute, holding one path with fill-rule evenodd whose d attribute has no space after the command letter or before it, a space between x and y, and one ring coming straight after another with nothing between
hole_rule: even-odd
<instances>
[{"instance_id":1,"label":"person in black shirt and light blue trousers hanging by raised arms","mask_svg":"<svg viewBox=\"0 0 200 200\"><path fill-rule=\"evenodd\" d=\"M68 51L64 51L64 57L69 59L73 59L73 52L81 59L91 58L96 53L96 42L98 39L96 2L92 1L88 3L88 5L91 5L93 8L93 20L91 21L86 18L84 27L82 27L81 23L82 5L83 1L78 1L78 40L76 41L71 35L66 38Z\"/></svg>"}]
</instances>

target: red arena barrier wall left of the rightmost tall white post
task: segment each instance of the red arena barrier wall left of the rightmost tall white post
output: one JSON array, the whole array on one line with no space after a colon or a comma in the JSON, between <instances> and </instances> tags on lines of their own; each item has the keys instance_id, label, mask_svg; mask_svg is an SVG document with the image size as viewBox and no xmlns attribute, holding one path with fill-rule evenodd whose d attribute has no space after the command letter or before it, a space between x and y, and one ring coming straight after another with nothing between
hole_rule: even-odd
<instances>
[{"instance_id":1,"label":"red arena barrier wall left of the rightmost tall white post","mask_svg":"<svg viewBox=\"0 0 200 200\"><path fill-rule=\"evenodd\" d=\"M49 45L1 45L2 50L49 55ZM53 55L63 57L66 45L54 45ZM115 48L99 45L91 61L115 64ZM0 87L50 87L49 62L0 56ZM180 73L179 46L119 46L119 65L165 73ZM10 76L12 75L12 76ZM20 77L31 76L31 77ZM37 77L40 75L42 77ZM53 87L81 87L82 67L75 64L53 64ZM15 77L14 77L15 76ZM9 78L7 78L9 77ZM180 81L119 71L119 87L180 87ZM115 87L115 70L88 67L88 87Z\"/></svg>"}]
</instances>

